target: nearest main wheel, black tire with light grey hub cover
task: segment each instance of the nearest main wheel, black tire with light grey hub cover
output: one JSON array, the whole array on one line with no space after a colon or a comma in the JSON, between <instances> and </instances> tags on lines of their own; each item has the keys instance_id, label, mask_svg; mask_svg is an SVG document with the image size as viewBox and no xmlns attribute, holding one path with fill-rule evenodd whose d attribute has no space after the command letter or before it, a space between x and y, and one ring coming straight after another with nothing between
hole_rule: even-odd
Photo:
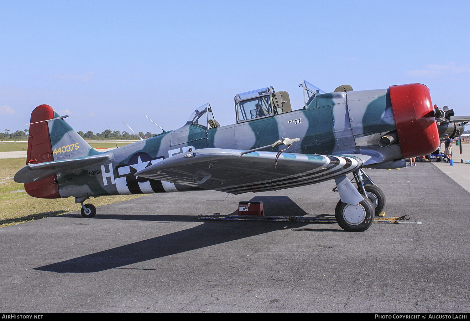
<instances>
[{"instance_id":1,"label":"nearest main wheel, black tire with light grey hub cover","mask_svg":"<svg viewBox=\"0 0 470 321\"><path fill-rule=\"evenodd\" d=\"M372 202L366 198L358 205L350 205L340 200L335 209L335 217L338 225L345 231L362 232L374 222L375 210Z\"/></svg>"}]
</instances>

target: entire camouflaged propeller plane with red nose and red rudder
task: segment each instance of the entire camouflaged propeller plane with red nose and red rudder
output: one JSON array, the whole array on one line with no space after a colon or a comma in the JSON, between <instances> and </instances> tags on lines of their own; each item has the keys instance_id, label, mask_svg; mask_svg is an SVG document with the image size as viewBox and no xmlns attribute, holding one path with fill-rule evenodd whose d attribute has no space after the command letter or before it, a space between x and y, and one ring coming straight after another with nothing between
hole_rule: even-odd
<instances>
[{"instance_id":1,"label":"entire camouflaged propeller plane with red nose and red rudder","mask_svg":"<svg viewBox=\"0 0 470 321\"><path fill-rule=\"evenodd\" d=\"M334 179L338 224L366 230L385 196L362 168L401 168L404 158L435 151L436 117L444 112L433 108L423 84L368 91L343 85L329 93L306 81L299 86L300 109L292 110L287 92L266 87L235 96L233 125L220 127L205 104L180 129L104 153L88 145L66 116L41 105L31 114L27 165L14 179L33 197L75 197L84 217L96 214L95 206L83 204L91 196L238 194Z\"/></svg>"}]
</instances>

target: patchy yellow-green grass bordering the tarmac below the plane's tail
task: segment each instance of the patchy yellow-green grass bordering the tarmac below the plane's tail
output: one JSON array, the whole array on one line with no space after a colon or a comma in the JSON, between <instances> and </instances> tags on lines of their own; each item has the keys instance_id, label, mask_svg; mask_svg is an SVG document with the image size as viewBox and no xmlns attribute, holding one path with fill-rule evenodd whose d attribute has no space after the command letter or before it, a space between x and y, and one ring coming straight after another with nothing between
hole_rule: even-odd
<instances>
[{"instance_id":1,"label":"patchy yellow-green grass bordering the tarmac below the plane's tail","mask_svg":"<svg viewBox=\"0 0 470 321\"><path fill-rule=\"evenodd\" d=\"M0 228L57 216L80 210L75 199L36 199L24 191L24 184L15 183L13 176L26 165L25 158L0 159ZM135 199L140 195L102 196L91 199L94 206L101 206Z\"/></svg>"}]
</instances>

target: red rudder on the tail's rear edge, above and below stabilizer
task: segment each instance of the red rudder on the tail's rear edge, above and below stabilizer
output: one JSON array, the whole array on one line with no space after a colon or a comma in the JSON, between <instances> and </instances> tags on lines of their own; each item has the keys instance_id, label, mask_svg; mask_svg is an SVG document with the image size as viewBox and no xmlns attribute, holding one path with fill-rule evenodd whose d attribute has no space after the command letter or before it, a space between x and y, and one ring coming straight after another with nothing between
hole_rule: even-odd
<instances>
[{"instance_id":1,"label":"red rudder on the tail's rear edge, above and below stabilizer","mask_svg":"<svg viewBox=\"0 0 470 321\"><path fill-rule=\"evenodd\" d=\"M48 119L54 118L54 109L49 105L40 105L31 113L31 125L28 138L27 164L38 164L53 161L51 140L49 137ZM24 190L32 197L40 199L60 198L57 176L50 176L33 183L25 183Z\"/></svg>"}]
</instances>

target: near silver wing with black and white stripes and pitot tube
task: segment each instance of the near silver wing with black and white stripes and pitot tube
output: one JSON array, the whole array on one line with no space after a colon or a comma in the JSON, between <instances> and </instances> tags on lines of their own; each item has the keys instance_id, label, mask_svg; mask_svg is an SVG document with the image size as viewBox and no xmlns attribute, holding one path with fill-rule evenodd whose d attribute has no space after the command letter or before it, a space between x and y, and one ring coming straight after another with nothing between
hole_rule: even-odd
<instances>
[{"instance_id":1,"label":"near silver wing with black and white stripes and pitot tube","mask_svg":"<svg viewBox=\"0 0 470 321\"><path fill-rule=\"evenodd\" d=\"M182 153L135 173L208 190L244 193L307 185L345 175L362 165L354 156L252 152L219 148Z\"/></svg>"}]
</instances>

